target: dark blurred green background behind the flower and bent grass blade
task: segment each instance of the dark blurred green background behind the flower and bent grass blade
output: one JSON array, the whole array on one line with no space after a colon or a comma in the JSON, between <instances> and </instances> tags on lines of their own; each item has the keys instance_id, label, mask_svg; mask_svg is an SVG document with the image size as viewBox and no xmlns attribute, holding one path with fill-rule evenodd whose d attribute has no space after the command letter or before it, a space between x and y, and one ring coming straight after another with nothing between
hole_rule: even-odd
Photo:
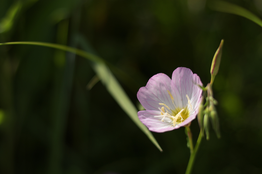
<instances>
[{"instance_id":1,"label":"dark blurred green background behind the flower and bent grass blade","mask_svg":"<svg viewBox=\"0 0 262 174\"><path fill-rule=\"evenodd\" d=\"M231 0L262 16L260 0ZM221 139L202 141L193 173L262 173L262 28L205 0L1 0L0 43L44 41L96 53L130 99L157 73L190 68L214 81ZM0 173L184 173L184 128L153 133L161 153L95 76L51 48L0 46ZM197 120L191 124L194 142Z\"/></svg>"}]
</instances>

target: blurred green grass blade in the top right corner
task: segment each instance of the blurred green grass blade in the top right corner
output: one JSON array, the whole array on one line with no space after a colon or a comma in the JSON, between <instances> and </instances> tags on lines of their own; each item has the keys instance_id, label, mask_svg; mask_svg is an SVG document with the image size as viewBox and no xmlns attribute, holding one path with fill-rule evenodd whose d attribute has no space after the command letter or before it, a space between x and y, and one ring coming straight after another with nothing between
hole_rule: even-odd
<instances>
[{"instance_id":1,"label":"blurred green grass blade in the top right corner","mask_svg":"<svg viewBox=\"0 0 262 174\"><path fill-rule=\"evenodd\" d=\"M220 0L212 0L208 2L208 7L211 10L243 16L262 27L262 21L258 16L238 5Z\"/></svg>"}]
</instances>

